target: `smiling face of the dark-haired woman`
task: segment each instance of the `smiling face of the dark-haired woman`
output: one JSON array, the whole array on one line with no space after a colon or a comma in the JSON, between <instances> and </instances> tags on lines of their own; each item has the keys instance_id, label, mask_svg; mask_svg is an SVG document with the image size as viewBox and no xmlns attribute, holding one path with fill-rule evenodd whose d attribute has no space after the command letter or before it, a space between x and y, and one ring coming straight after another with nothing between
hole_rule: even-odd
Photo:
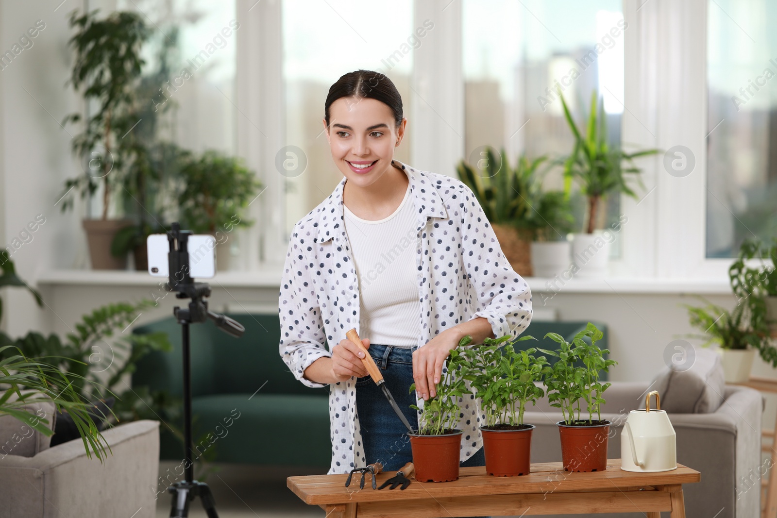
<instances>
[{"instance_id":1,"label":"smiling face of the dark-haired woman","mask_svg":"<svg viewBox=\"0 0 777 518\"><path fill-rule=\"evenodd\" d=\"M396 127L391 108L376 99L341 97L332 103L326 139L347 181L367 187L390 171L394 148L402 141L406 123L402 119Z\"/></svg>"}]
</instances>

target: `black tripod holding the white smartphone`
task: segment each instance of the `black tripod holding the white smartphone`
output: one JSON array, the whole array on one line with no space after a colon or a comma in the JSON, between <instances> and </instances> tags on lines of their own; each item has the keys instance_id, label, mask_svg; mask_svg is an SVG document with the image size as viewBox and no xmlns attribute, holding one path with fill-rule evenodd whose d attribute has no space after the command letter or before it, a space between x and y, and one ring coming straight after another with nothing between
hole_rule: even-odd
<instances>
[{"instance_id":1,"label":"black tripod holding the white smartphone","mask_svg":"<svg viewBox=\"0 0 777 518\"><path fill-rule=\"evenodd\" d=\"M218 518L216 502L213 499L211 488L205 482L194 480L192 452L192 391L191 391L191 360L189 343L189 325L196 322L205 322L212 318L219 329L229 335L239 338L246 329L232 318L226 315L218 315L208 310L204 297L211 296L211 287L207 283L195 283L189 276L189 251L187 244L191 231L180 229L176 222L172 224L172 231L167 233L170 251L167 256L169 266L169 280L166 290L177 291L176 298L190 298L188 308L173 308L173 315L181 325L181 338L183 348L183 425L184 425L184 464L185 479L171 485L167 490L172 493L171 518L186 518L189 516L189 502L197 496L202 499L202 506L208 518Z\"/></svg>"}]
</instances>

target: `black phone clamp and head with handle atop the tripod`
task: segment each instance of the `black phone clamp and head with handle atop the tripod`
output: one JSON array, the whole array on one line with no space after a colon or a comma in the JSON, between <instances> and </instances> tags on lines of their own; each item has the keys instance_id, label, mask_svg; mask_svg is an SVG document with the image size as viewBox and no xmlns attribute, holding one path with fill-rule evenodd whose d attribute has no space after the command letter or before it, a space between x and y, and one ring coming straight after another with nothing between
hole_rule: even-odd
<instances>
[{"instance_id":1,"label":"black phone clamp and head with handle atop the tripod","mask_svg":"<svg viewBox=\"0 0 777 518\"><path fill-rule=\"evenodd\" d=\"M180 224L176 221L172 224L172 230L167 232L167 241L170 245L170 251L167 256L169 277L166 290L176 291L176 298L190 298L189 308L173 309L173 314L179 323L205 322L211 318L218 329L229 335L239 338L246 328L239 322L226 315L219 315L207 308L207 301L204 297L211 296L211 286L208 283L196 283L189 275L189 236L192 231L181 230Z\"/></svg>"}]
</instances>

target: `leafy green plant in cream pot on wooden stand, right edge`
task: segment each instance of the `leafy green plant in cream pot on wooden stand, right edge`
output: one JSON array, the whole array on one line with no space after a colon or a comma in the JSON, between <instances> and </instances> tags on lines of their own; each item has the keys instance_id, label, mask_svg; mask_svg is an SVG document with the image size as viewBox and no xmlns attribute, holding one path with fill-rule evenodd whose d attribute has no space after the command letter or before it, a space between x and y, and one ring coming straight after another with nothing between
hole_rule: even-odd
<instances>
[{"instance_id":1,"label":"leafy green plant in cream pot on wooden stand, right edge","mask_svg":"<svg viewBox=\"0 0 777 518\"><path fill-rule=\"evenodd\" d=\"M740 302L728 311L704 297L699 299L706 305L694 307L683 304L688 309L691 325L702 331L701 335L688 337L705 339L702 347L718 344L726 383L744 383L750 378L756 351L772 363L772 367L777 367L777 349L769 339L765 321L752 317L749 304Z\"/></svg>"}]
</instances>

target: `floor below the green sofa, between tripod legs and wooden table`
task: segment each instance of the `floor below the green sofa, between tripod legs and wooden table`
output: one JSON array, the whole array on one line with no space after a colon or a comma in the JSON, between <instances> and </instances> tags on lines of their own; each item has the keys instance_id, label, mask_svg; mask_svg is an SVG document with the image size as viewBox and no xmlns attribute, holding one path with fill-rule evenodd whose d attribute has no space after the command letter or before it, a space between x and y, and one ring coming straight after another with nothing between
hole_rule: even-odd
<instances>
[{"instance_id":1,"label":"floor below the green sofa, between tripod legs and wooden table","mask_svg":"<svg viewBox=\"0 0 777 518\"><path fill-rule=\"evenodd\" d=\"M159 475L171 477L179 463L161 461ZM308 506L286 487L286 478L294 475L322 475L320 468L266 468L251 465L214 464L211 473L195 478L204 480L213 492L219 518L323 518L319 506ZM168 471L169 470L169 471ZM172 479L175 479L172 475ZM160 483L159 488L162 488ZM156 516L170 516L172 495L158 495ZM196 499L190 506L190 518L207 518L202 502Z\"/></svg>"}]
</instances>

